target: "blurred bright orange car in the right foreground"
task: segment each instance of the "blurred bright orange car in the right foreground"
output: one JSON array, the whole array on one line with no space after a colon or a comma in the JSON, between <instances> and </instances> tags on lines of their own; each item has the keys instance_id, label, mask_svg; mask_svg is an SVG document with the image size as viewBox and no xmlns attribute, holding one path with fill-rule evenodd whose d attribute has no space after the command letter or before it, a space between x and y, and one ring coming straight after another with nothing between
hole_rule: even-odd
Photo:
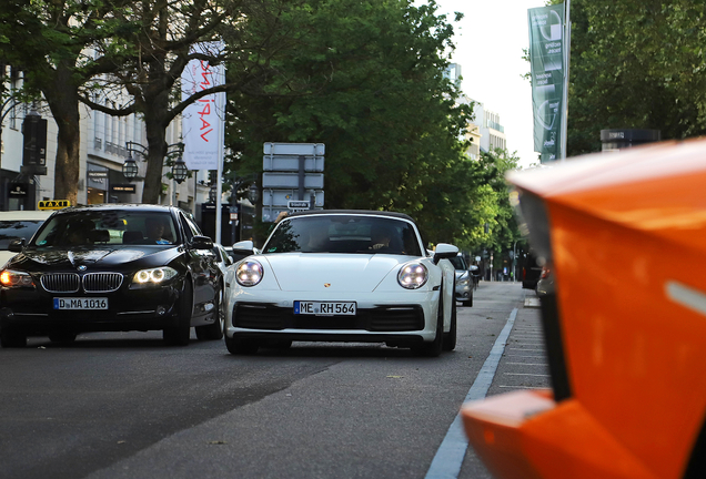
<instances>
[{"instance_id":1,"label":"blurred bright orange car in the right foreground","mask_svg":"<svg viewBox=\"0 0 706 479\"><path fill-rule=\"evenodd\" d=\"M706 477L704 157L665 142L508 176L554 278L552 389L463 407L494 477Z\"/></svg>"}]
</instances>

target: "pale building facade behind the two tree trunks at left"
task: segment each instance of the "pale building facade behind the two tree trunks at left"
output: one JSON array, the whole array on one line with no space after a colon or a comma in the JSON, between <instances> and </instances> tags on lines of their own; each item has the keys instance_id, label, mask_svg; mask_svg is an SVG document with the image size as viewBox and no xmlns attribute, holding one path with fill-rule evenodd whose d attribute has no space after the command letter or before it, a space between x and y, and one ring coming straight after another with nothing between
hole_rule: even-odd
<instances>
[{"instance_id":1,"label":"pale building facade behind the two tree trunks at left","mask_svg":"<svg viewBox=\"0 0 706 479\"><path fill-rule=\"evenodd\" d=\"M41 103L28 105L13 100L12 93L21 88L21 72L3 67L0 80L7 93L0 103L0 211L36 210L41 200L63 200L54 197L58 129L49 109ZM31 112L47 120L46 174L22 172L22 124ZM112 116L84 105L80 105L80 115L78 204L140 203L147 172L143 122L135 114ZM178 118L167 130L168 144L175 149L180 137L181 119ZM128 156L138 164L139 173L133 180L122 173ZM164 166L160 203L178 205L198 216L196 206L209 202L208 171L192 171L192 177L181 184L169 180L165 176L169 172L170 169Z\"/></svg>"}]
</instances>

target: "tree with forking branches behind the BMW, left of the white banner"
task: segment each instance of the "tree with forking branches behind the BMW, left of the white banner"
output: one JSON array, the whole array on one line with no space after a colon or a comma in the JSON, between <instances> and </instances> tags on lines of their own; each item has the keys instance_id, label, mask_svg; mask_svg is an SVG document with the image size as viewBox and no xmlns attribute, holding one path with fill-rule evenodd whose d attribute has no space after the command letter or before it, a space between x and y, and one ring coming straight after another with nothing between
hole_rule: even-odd
<instances>
[{"instance_id":1,"label":"tree with forking branches behind the BMW, left of the white banner","mask_svg":"<svg viewBox=\"0 0 706 479\"><path fill-rule=\"evenodd\" d=\"M289 37L297 26L283 28L281 19L299 3L288 0L141 0L117 13L123 29L113 41L130 45L132 55L117 72L103 79L101 86L112 95L127 91L133 103L111 109L88 96L81 100L108 114L138 112L143 118L148 140L143 203L159 201L168 152L167 128L188 105L218 92L256 91L266 96L268 90L261 85L269 81L286 88L286 94L301 94L297 89L306 82L283 75L270 61L271 55L290 48ZM201 51L192 48L209 42L223 42L224 49ZM180 78L192 60L210 65L228 62L226 83L180 99Z\"/></svg>"}]
</instances>

